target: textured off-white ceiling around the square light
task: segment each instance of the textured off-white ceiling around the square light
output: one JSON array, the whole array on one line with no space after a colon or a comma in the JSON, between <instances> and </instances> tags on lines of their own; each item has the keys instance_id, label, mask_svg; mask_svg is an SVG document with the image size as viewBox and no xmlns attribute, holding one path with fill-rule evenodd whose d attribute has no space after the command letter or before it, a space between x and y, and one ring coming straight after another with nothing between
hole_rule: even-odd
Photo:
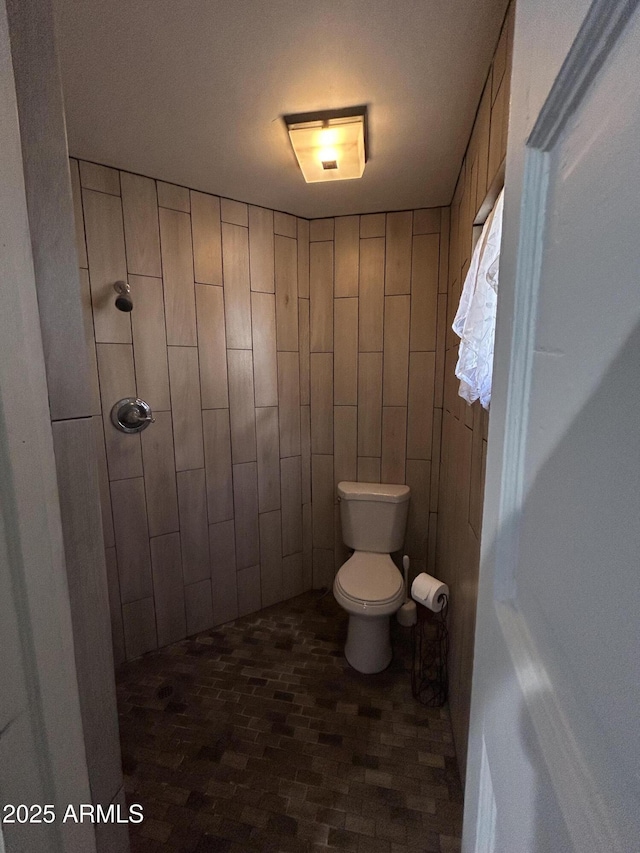
<instances>
[{"instance_id":1,"label":"textured off-white ceiling around the square light","mask_svg":"<svg viewBox=\"0 0 640 853\"><path fill-rule=\"evenodd\" d=\"M309 218L448 204L506 0L54 0L72 155ZM355 181L281 116L369 107Z\"/></svg>"}]
</instances>

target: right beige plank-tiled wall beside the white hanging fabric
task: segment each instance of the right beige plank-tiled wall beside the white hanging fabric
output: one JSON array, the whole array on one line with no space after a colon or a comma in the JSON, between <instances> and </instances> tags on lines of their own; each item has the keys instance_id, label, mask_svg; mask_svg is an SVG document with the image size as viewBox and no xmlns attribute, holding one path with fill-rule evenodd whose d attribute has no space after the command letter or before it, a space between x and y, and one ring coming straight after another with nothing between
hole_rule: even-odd
<instances>
[{"instance_id":1,"label":"right beige plank-tiled wall beside the white hanging fabric","mask_svg":"<svg viewBox=\"0 0 640 853\"><path fill-rule=\"evenodd\" d=\"M448 302L448 308L446 332L445 329L438 330L440 336L445 336L446 348L441 468L439 478L432 477L432 484L434 479L436 481L436 495L439 492L435 504L438 511L435 572L451 590L449 702L456 753L463 776L471 702L489 420L488 413L479 403L468 406L458 396L455 365L460 341L451 330L451 324L469 267L474 223L484 221L504 183L513 12L512 4L489 70L451 203L449 269L441 278L438 294L439 306ZM443 315L444 312L439 310L439 321ZM439 357L436 353L436 372L442 367ZM441 401L436 400L436 406L439 405ZM434 414L435 426L440 409L435 408Z\"/></svg>"}]
</instances>

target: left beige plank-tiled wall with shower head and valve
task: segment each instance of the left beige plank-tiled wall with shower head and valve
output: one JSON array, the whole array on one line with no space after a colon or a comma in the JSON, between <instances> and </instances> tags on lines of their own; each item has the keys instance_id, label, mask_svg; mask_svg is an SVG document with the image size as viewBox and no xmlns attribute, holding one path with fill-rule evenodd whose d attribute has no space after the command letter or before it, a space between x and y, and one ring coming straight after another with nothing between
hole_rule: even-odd
<instances>
[{"instance_id":1,"label":"left beige plank-tiled wall with shower head and valve","mask_svg":"<svg viewBox=\"0 0 640 853\"><path fill-rule=\"evenodd\" d=\"M119 662L311 587L309 223L94 163L71 173ZM327 297L314 334L332 329ZM136 394L156 422L124 435L111 407Z\"/></svg>"}]
</instances>

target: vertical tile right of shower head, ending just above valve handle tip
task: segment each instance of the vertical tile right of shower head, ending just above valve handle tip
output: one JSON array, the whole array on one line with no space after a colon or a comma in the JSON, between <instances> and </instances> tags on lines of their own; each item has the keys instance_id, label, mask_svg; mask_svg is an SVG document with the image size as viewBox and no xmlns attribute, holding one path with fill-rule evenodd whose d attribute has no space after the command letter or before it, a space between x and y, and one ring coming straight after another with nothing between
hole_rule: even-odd
<instances>
[{"instance_id":1,"label":"vertical tile right of shower head, ending just above valve handle tip","mask_svg":"<svg viewBox=\"0 0 640 853\"><path fill-rule=\"evenodd\" d=\"M135 306L131 324L138 396L154 412L167 411L171 404L162 281L133 275L129 281Z\"/></svg>"}]
</instances>

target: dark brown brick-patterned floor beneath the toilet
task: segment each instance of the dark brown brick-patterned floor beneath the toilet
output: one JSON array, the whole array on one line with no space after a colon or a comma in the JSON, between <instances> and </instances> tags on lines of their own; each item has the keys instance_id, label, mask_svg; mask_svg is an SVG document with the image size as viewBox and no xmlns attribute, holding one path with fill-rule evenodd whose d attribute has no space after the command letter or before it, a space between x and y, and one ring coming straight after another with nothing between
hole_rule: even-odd
<instances>
[{"instance_id":1,"label":"dark brown brick-patterned floor beneath the toilet","mask_svg":"<svg viewBox=\"0 0 640 853\"><path fill-rule=\"evenodd\" d=\"M411 696L408 630L365 676L346 624L306 593L119 668L132 853L460 850L449 714Z\"/></svg>"}]
</instances>

